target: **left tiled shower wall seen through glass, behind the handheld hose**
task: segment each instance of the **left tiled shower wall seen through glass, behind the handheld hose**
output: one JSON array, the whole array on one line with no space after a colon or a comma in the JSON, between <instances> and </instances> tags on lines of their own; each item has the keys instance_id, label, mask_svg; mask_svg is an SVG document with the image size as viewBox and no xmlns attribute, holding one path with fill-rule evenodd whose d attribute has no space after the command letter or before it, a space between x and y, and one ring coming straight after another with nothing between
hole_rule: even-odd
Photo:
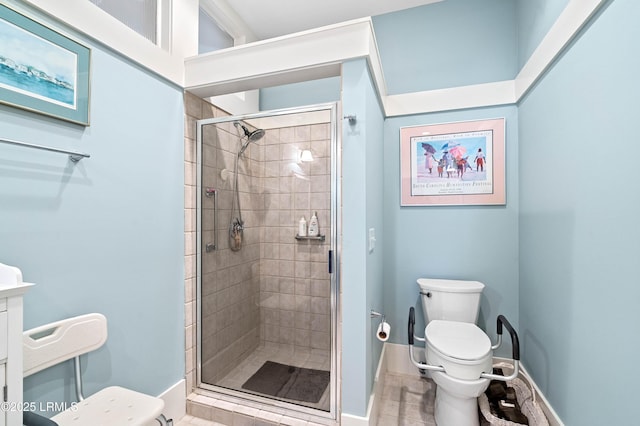
<instances>
[{"instance_id":1,"label":"left tiled shower wall seen through glass, behind the handheld hose","mask_svg":"<svg viewBox=\"0 0 640 426\"><path fill-rule=\"evenodd\" d=\"M238 160L238 188L244 231L242 248L229 248L236 153L241 140L232 123L203 128L202 184L218 191L202 198L202 381L214 384L259 343L260 230L264 205L257 186L261 147L252 144ZM238 217L238 210L233 214ZM207 252L217 234L217 249Z\"/></svg>"}]
</instances>

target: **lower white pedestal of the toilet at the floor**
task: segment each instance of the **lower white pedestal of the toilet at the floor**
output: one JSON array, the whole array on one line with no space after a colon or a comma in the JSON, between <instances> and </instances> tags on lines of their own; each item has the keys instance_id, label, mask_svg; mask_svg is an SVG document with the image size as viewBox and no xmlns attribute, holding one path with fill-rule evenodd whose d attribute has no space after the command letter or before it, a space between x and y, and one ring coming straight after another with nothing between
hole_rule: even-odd
<instances>
[{"instance_id":1,"label":"lower white pedestal of the toilet at the floor","mask_svg":"<svg viewBox=\"0 0 640 426\"><path fill-rule=\"evenodd\" d=\"M435 418L438 426L479 426L478 398L456 396L437 386Z\"/></svg>"}]
</instances>

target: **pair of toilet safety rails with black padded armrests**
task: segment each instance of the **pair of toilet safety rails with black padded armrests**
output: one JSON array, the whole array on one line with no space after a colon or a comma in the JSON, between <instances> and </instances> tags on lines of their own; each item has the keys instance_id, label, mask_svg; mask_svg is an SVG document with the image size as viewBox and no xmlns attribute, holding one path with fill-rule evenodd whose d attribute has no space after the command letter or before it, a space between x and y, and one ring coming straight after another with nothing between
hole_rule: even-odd
<instances>
[{"instance_id":1,"label":"pair of toilet safety rails with black padded armrests","mask_svg":"<svg viewBox=\"0 0 640 426\"><path fill-rule=\"evenodd\" d=\"M414 333L416 323L416 314L413 306L409 309L409 325L408 325L408 337L409 337L409 359L411 363L418 367L420 370L429 370L429 371L442 371L445 372L444 367L440 365L429 365L427 363L416 361L413 354L413 343L414 339L424 342L426 340L424 338L418 337ZM513 380L518 377L518 373L520 371L520 341L518 340L518 333L511 326L511 323L505 318L504 315L498 315L497 319L497 333L498 333L498 342L491 346L491 350L496 350L502 344L502 327L505 327L507 331L509 331L509 335L511 336L511 350L512 350L512 358L513 358L513 373L509 376L501 376L499 374L491 374L491 373L482 373L480 375L480 379L490 379L490 380Z\"/></svg>"}]
</instances>

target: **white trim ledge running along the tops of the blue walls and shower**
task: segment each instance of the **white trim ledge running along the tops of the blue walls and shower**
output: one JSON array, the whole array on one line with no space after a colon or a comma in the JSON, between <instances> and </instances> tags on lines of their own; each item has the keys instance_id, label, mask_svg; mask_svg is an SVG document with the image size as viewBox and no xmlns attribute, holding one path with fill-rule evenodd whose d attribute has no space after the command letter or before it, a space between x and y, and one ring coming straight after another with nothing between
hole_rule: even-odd
<instances>
[{"instance_id":1,"label":"white trim ledge running along the tops of the blue walls and shower","mask_svg":"<svg viewBox=\"0 0 640 426\"><path fill-rule=\"evenodd\" d=\"M86 0L23 1L202 98L339 76L343 62L366 58L387 117L519 102L606 2L570 0L514 80L388 96L371 18L243 44L183 61L197 52L197 34L187 35L175 29L197 27L197 0L163 2L171 4L171 25L163 28L161 37L166 43L167 33L171 34L171 53ZM228 8L225 0L211 0L210 5L223 11L225 6ZM15 7L19 8L19 4ZM238 18L230 12L224 15L231 23ZM245 36L252 35L238 35Z\"/></svg>"}]
</instances>

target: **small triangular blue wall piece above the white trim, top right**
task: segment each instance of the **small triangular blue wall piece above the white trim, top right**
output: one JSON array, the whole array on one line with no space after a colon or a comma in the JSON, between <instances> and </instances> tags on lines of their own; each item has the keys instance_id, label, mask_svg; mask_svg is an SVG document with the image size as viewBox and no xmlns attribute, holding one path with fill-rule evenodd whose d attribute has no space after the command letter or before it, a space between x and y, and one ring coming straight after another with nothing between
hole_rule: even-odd
<instances>
[{"instance_id":1,"label":"small triangular blue wall piece above the white trim, top right","mask_svg":"<svg viewBox=\"0 0 640 426\"><path fill-rule=\"evenodd\" d=\"M569 0L518 0L518 69L527 62Z\"/></svg>"}]
</instances>

